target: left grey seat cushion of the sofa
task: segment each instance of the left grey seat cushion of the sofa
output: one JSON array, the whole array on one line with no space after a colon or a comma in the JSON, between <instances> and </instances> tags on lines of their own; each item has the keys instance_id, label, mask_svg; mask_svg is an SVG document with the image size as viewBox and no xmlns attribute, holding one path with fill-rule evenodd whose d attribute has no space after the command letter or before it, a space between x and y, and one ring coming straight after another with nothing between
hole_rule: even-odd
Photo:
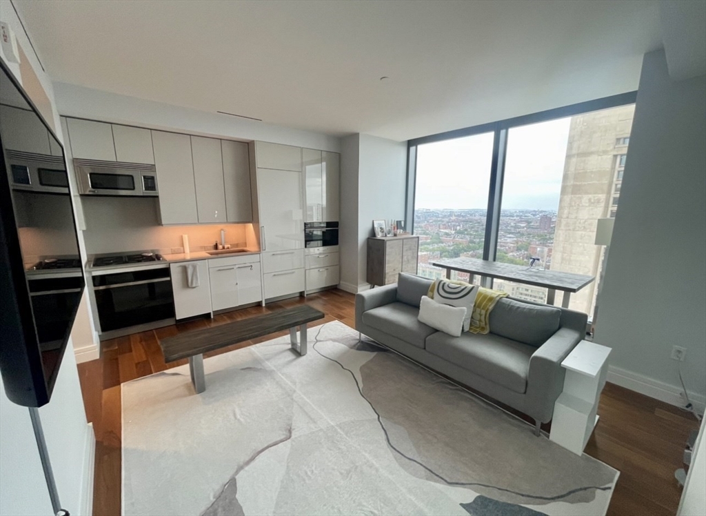
<instances>
[{"instance_id":1,"label":"left grey seat cushion of the sofa","mask_svg":"<svg viewBox=\"0 0 706 516\"><path fill-rule=\"evenodd\" d=\"M397 339L409 342L413 346L424 349L424 341L436 329L428 327L417 320L419 310L405 303L390 303L368 310L363 314L363 322L369 326L394 335Z\"/></svg>"}]
</instances>

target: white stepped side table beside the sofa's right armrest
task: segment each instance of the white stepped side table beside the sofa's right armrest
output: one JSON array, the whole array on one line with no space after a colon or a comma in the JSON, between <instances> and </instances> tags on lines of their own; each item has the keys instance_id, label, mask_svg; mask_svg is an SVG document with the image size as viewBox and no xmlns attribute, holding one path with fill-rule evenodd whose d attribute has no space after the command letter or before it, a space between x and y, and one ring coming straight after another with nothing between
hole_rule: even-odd
<instances>
[{"instance_id":1,"label":"white stepped side table beside the sofa's right armrest","mask_svg":"<svg viewBox=\"0 0 706 516\"><path fill-rule=\"evenodd\" d=\"M598 401L606 385L611 348L580 341L564 358L564 389L554 403L549 439L581 455L598 423Z\"/></svg>"}]
</instances>

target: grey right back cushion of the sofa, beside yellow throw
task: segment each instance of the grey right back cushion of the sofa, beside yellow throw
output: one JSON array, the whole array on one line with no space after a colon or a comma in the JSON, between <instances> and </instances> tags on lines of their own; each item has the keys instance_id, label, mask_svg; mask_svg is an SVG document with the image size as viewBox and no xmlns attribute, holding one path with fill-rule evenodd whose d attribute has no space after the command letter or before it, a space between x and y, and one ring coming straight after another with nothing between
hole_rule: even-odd
<instances>
[{"instance_id":1,"label":"grey right back cushion of the sofa, beside yellow throw","mask_svg":"<svg viewBox=\"0 0 706 516\"><path fill-rule=\"evenodd\" d=\"M490 314L490 332L539 347L559 329L561 310L504 298Z\"/></svg>"}]
</instances>

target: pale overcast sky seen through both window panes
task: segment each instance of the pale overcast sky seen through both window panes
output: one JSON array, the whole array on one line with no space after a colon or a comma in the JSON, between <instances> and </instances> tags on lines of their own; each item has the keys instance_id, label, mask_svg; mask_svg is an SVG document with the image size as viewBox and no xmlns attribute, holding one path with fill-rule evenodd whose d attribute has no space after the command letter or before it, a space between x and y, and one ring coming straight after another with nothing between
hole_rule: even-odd
<instances>
[{"instance_id":1,"label":"pale overcast sky seen through both window panes","mask_svg":"<svg viewBox=\"0 0 706 516\"><path fill-rule=\"evenodd\" d=\"M558 208L570 117L508 133L503 209ZM493 133L420 145L415 206L486 209Z\"/></svg>"}]
</instances>

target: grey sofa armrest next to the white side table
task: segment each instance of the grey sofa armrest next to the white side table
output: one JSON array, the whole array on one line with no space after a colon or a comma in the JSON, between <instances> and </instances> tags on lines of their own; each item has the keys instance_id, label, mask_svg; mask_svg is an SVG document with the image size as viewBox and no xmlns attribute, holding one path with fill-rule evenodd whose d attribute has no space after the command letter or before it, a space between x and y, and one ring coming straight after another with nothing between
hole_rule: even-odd
<instances>
[{"instance_id":1,"label":"grey sofa armrest next to the white side table","mask_svg":"<svg viewBox=\"0 0 706 516\"><path fill-rule=\"evenodd\" d=\"M530 357L527 372L527 412L542 423L547 423L554 413L554 401L564 388L566 371L561 362L585 335L573 328L561 327L537 348Z\"/></svg>"}]
</instances>

